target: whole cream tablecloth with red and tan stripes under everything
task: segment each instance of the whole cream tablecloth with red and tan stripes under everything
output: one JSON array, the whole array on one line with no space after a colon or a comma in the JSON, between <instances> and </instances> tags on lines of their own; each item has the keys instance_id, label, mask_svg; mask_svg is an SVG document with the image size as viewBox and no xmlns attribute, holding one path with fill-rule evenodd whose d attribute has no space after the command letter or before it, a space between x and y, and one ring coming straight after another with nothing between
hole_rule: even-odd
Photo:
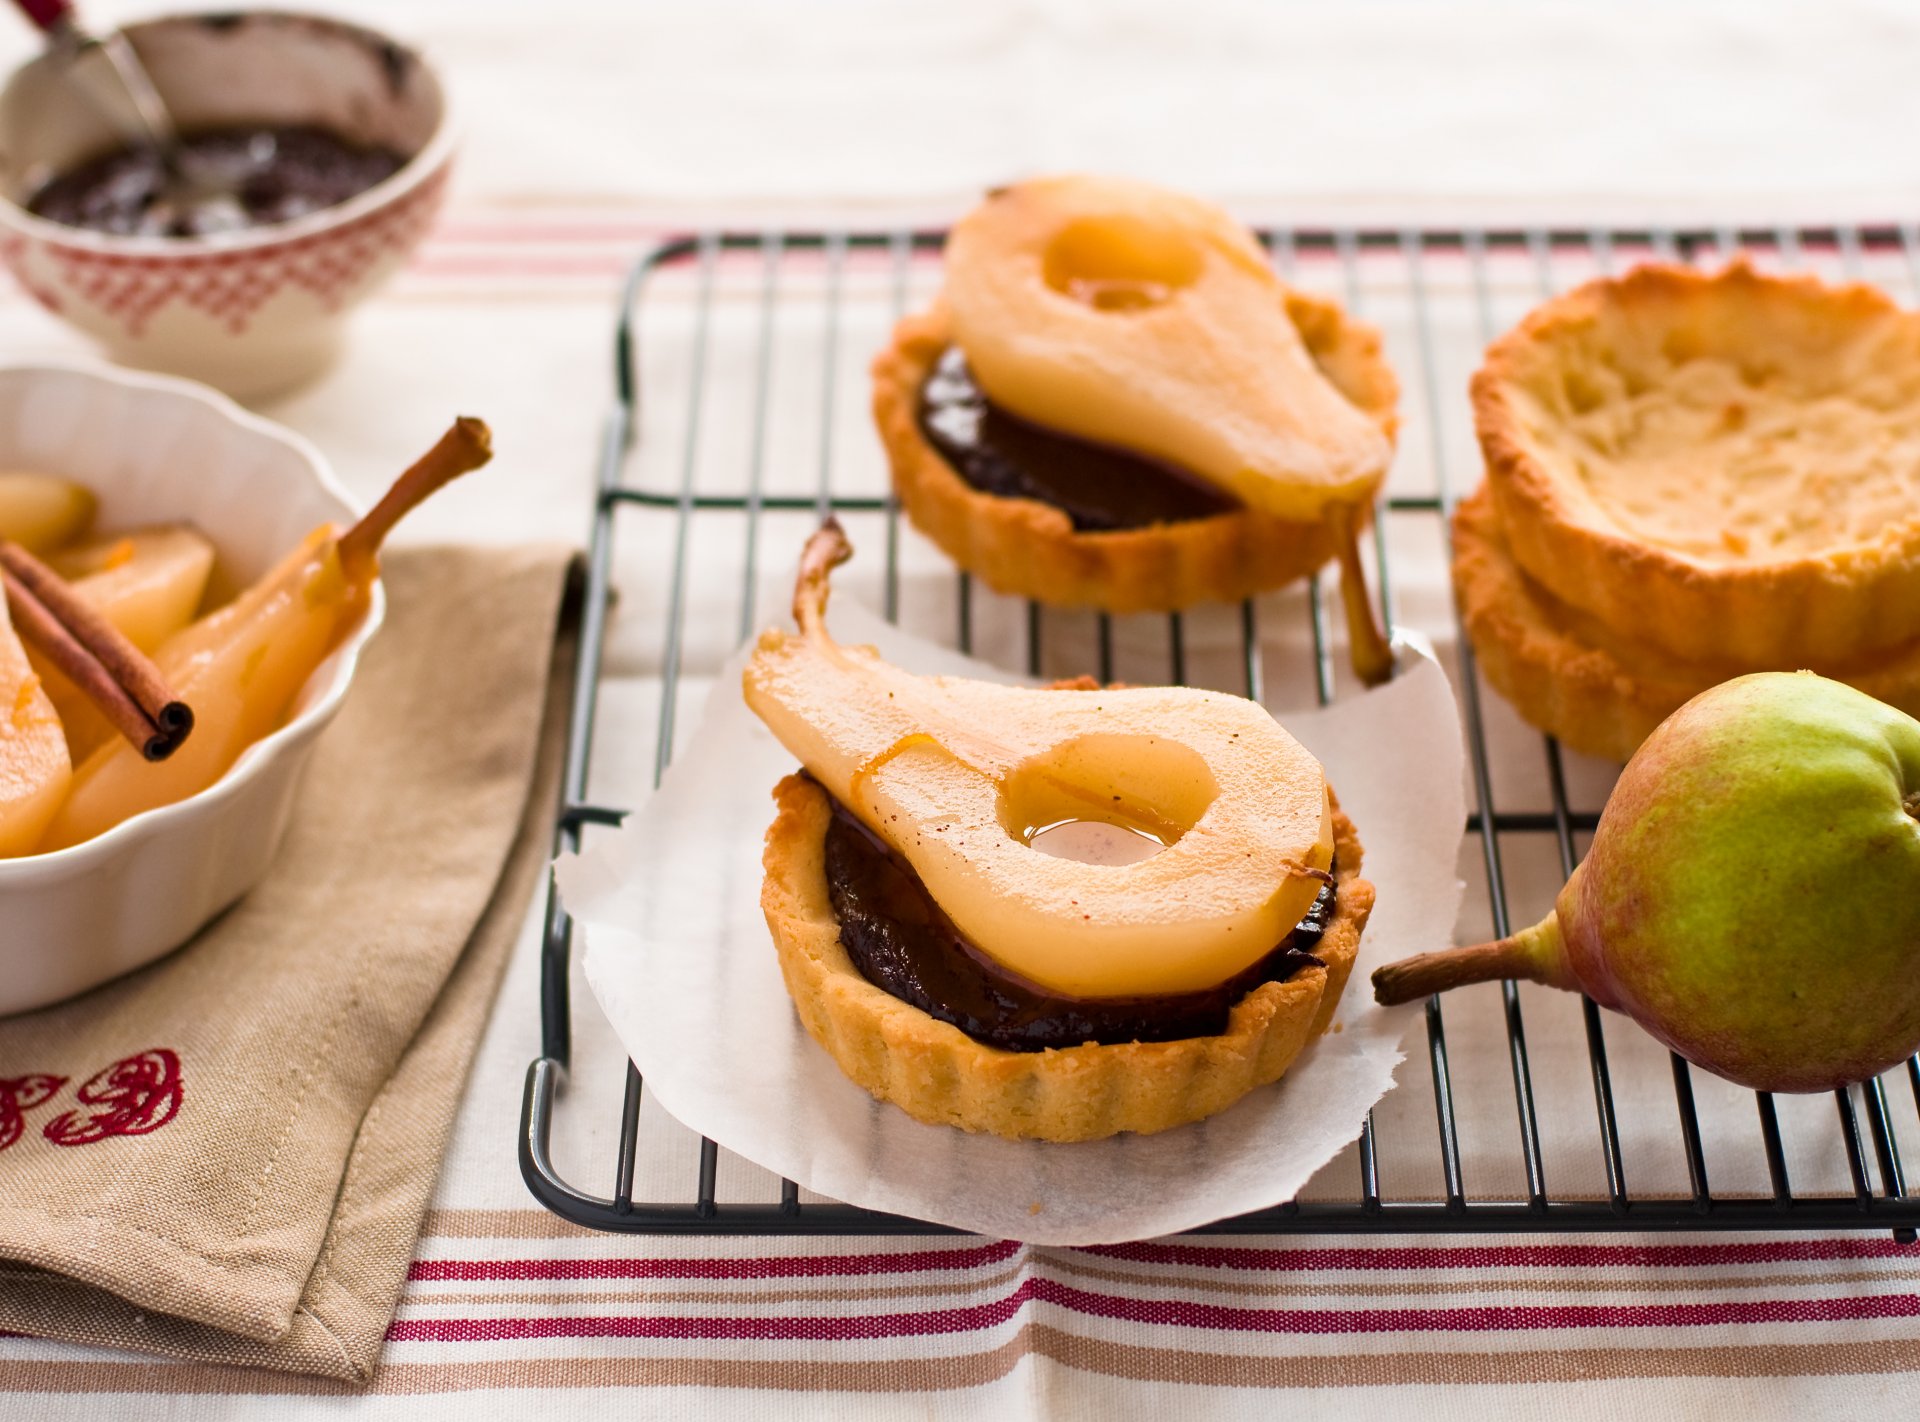
<instances>
[{"instance_id":1,"label":"whole cream tablecloth with red and tan stripes under everything","mask_svg":"<svg viewBox=\"0 0 1920 1422\"><path fill-rule=\"evenodd\" d=\"M148 8L90 6L98 23ZM620 274L693 215L749 226L945 217L983 182L1041 167L1125 167L1292 221L1903 217L1920 192L1920 88L1908 83L1920 21L1880 0L983 0L912 19L879 0L411 0L378 8L376 23L424 35L455 71L470 134L459 196L415 267L361 315L349 359L267 413L311 436L363 499L449 415L484 415L499 439L486 497L422 509L405 530L422 541L584 535ZM0 59L27 46L8 33ZM1500 301L1511 320L1528 296ZM1471 301L1461 309L1471 320ZM1388 336L1405 349L1405 330ZM849 359L870 338L849 334ZM0 290L0 353L83 349ZM1448 374L1455 405L1463 376ZM1467 478L1471 439L1457 409L1450 418ZM1427 447L1409 426L1404 462ZM876 455L849 445L843 457ZM1396 603L1444 628L1444 570L1436 549L1425 557ZM643 727L634 754L645 760L659 699L645 639L618 645L611 670L609 708ZM1521 733L1501 706L1488 714L1496 735ZM1498 785L1503 804L1538 791L1532 777ZM1463 871L1471 858L1463 850ZM1544 910L1551 854L1509 869L1517 902ZM1469 894L1461 933L1484 931L1484 896ZM1885 1236L1027 1249L576 1232L532 1205L513 1153L538 1052L534 950L530 921L365 1395L6 1338L0 1416L1920 1414L1920 1263ZM1551 1178L1592 1188L1578 1017L1571 1000L1523 998ZM584 986L576 1002L555 1151L605 1190L620 1052ZM1448 1013L1457 1080L1498 1098L1498 996L1467 994ZM1465 1046L1476 1040L1490 1044L1478 1057ZM1636 1055L1630 1029L1609 1046L1622 1090L1636 1073L1665 1088L1665 1057ZM1409 1063L1415 1078L1380 1107L1382 1140L1419 1148L1417 1163L1384 1161L1415 1173L1396 1176L1402 1186L1432 1173L1423 1071ZM1728 1111L1745 1111L1736 1125L1751 1136L1751 1103L1716 1103ZM651 1103L645 1128L639 1194L684 1196L695 1142ZM1511 1115L1463 1121L1463 1149L1471 1182L1519 1188ZM1709 1149L1718 1171L1734 1144L1715 1136ZM1670 1159L1630 1165L1640 1188L1686 1186ZM1329 1167L1329 1190L1350 1194L1352 1169ZM768 1186L730 1171L735 1194ZM1795 1180L1803 1171L1837 1184L1830 1159L1795 1159Z\"/></svg>"}]
</instances>

